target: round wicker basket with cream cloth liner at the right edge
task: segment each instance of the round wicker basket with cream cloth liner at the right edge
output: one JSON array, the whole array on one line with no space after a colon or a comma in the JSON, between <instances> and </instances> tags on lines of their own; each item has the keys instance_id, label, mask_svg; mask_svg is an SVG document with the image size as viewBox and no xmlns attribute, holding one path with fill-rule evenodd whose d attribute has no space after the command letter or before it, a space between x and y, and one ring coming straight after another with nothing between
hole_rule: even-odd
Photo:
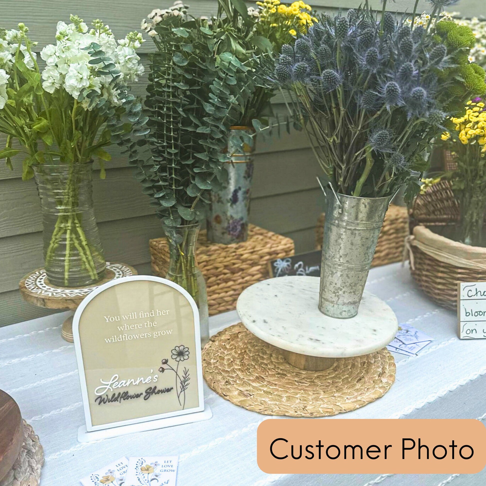
<instances>
[{"instance_id":1,"label":"round wicker basket with cream cloth liner at the right edge","mask_svg":"<svg viewBox=\"0 0 486 486\"><path fill-rule=\"evenodd\" d=\"M459 204L446 180L417 196L410 212L410 271L425 294L448 309L457 308L459 282L486 281L486 248L443 236L458 221Z\"/></svg>"}]
</instances>

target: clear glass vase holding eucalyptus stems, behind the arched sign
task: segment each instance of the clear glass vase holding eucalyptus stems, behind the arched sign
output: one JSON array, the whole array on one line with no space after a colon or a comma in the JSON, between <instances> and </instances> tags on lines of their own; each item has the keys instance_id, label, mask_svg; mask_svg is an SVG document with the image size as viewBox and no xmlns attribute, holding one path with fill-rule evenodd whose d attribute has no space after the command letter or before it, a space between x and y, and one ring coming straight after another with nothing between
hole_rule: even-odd
<instances>
[{"instance_id":1,"label":"clear glass vase holding eucalyptus stems, behind the arched sign","mask_svg":"<svg viewBox=\"0 0 486 486\"><path fill-rule=\"evenodd\" d=\"M164 228L169 244L169 268L165 278L186 289L196 302L201 328L201 347L209 341L209 313L206 281L197 266L196 245L199 223Z\"/></svg>"}]
</instances>

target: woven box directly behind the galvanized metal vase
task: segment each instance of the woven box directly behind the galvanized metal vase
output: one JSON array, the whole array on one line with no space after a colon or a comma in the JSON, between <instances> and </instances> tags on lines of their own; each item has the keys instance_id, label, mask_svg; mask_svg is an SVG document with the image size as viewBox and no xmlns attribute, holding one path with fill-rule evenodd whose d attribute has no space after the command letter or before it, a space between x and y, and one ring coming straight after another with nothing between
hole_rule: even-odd
<instances>
[{"instance_id":1,"label":"woven box directly behind the galvanized metal vase","mask_svg":"<svg viewBox=\"0 0 486 486\"><path fill-rule=\"evenodd\" d=\"M315 227L315 248L322 248L324 236L325 214L322 213L317 220ZM371 263L372 267L387 265L401 261L403 258L403 242L408 235L408 214L407 209L391 204L386 212L382 231L376 245L375 256Z\"/></svg>"}]
</instances>

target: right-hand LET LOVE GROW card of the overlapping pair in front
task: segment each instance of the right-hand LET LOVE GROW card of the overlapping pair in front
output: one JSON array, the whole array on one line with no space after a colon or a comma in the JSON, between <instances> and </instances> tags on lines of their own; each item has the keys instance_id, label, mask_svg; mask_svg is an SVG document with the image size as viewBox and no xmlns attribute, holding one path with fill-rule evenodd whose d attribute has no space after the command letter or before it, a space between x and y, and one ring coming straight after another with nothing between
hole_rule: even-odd
<instances>
[{"instance_id":1,"label":"right-hand LET LOVE GROW card of the overlapping pair in front","mask_svg":"<svg viewBox=\"0 0 486 486\"><path fill-rule=\"evenodd\" d=\"M123 486L175 486L177 456L130 457Z\"/></svg>"}]
</instances>

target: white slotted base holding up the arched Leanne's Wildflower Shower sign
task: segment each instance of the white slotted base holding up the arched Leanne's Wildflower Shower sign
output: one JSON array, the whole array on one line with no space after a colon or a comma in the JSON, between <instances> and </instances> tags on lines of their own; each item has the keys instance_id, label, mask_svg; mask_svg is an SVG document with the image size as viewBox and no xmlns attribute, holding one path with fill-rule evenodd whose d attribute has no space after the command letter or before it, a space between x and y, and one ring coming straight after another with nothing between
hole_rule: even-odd
<instances>
[{"instance_id":1,"label":"white slotted base holding up the arched Leanne's Wildflower Shower sign","mask_svg":"<svg viewBox=\"0 0 486 486\"><path fill-rule=\"evenodd\" d=\"M202 412L194 412L176 417L159 418L158 420L149 420L148 422L122 425L120 427L112 427L110 429L96 430L93 432L87 432L86 425L82 425L78 429L78 442L92 442L94 440L111 439L112 437L119 437L120 435L135 434L137 432L145 432L147 430L164 429L166 427L174 427L174 425L202 422L203 420L209 420L211 417L211 408L209 405L205 405Z\"/></svg>"}]
</instances>

